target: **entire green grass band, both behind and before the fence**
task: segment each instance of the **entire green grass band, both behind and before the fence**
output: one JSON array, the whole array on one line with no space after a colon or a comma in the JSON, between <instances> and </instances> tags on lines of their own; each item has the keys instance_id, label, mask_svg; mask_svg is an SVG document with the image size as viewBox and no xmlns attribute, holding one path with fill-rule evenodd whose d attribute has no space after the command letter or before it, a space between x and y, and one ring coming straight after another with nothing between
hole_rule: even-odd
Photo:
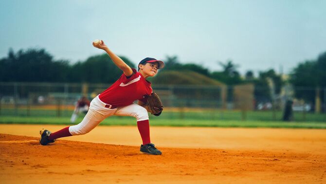
<instances>
[{"instance_id":1,"label":"entire green grass band, both behind and before the fence","mask_svg":"<svg viewBox=\"0 0 326 184\"><path fill-rule=\"evenodd\" d=\"M272 128L326 128L326 114L294 112L292 122L283 122L281 111L205 110L163 111L162 115L150 115L154 126L204 126L204 127L272 127ZM72 110L2 108L0 123L17 124L72 124ZM80 114L76 122L82 121ZM100 125L136 125L132 117L112 116Z\"/></svg>"}]
</instances>

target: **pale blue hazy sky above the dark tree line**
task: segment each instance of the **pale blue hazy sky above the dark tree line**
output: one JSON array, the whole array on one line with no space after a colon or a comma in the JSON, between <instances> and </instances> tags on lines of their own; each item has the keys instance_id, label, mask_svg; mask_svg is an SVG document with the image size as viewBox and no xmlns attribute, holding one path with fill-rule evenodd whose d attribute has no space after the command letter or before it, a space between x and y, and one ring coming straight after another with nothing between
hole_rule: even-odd
<instances>
[{"instance_id":1,"label":"pale blue hazy sky above the dark tree line","mask_svg":"<svg viewBox=\"0 0 326 184\"><path fill-rule=\"evenodd\" d=\"M290 73L326 51L326 0L0 0L0 58L45 48L71 63L103 40L137 65L145 57L221 70ZM99 66L100 67L100 66Z\"/></svg>"}]
</instances>

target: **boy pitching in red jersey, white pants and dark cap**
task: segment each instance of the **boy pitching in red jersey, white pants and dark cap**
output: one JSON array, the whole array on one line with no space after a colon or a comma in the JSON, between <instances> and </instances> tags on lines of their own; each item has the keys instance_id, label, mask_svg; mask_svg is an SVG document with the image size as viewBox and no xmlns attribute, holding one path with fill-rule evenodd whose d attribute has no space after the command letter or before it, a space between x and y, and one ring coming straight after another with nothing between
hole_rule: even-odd
<instances>
[{"instance_id":1,"label":"boy pitching in red jersey, white pants and dark cap","mask_svg":"<svg viewBox=\"0 0 326 184\"><path fill-rule=\"evenodd\" d=\"M93 43L93 46L106 51L114 64L123 71L123 74L108 89L91 101L89 111L81 123L65 127L54 133L41 130L40 144L47 145L57 138L86 134L109 116L132 116L137 120L137 127L143 140L140 152L162 154L150 141L147 112L151 112L151 110L147 105L147 98L152 94L152 88L146 78L154 77L158 69L164 67L163 61L145 58L139 62L138 71L136 71L115 55L102 40ZM135 100L138 100L138 104L133 103ZM160 110L154 115L160 115L163 106Z\"/></svg>"}]
</instances>

